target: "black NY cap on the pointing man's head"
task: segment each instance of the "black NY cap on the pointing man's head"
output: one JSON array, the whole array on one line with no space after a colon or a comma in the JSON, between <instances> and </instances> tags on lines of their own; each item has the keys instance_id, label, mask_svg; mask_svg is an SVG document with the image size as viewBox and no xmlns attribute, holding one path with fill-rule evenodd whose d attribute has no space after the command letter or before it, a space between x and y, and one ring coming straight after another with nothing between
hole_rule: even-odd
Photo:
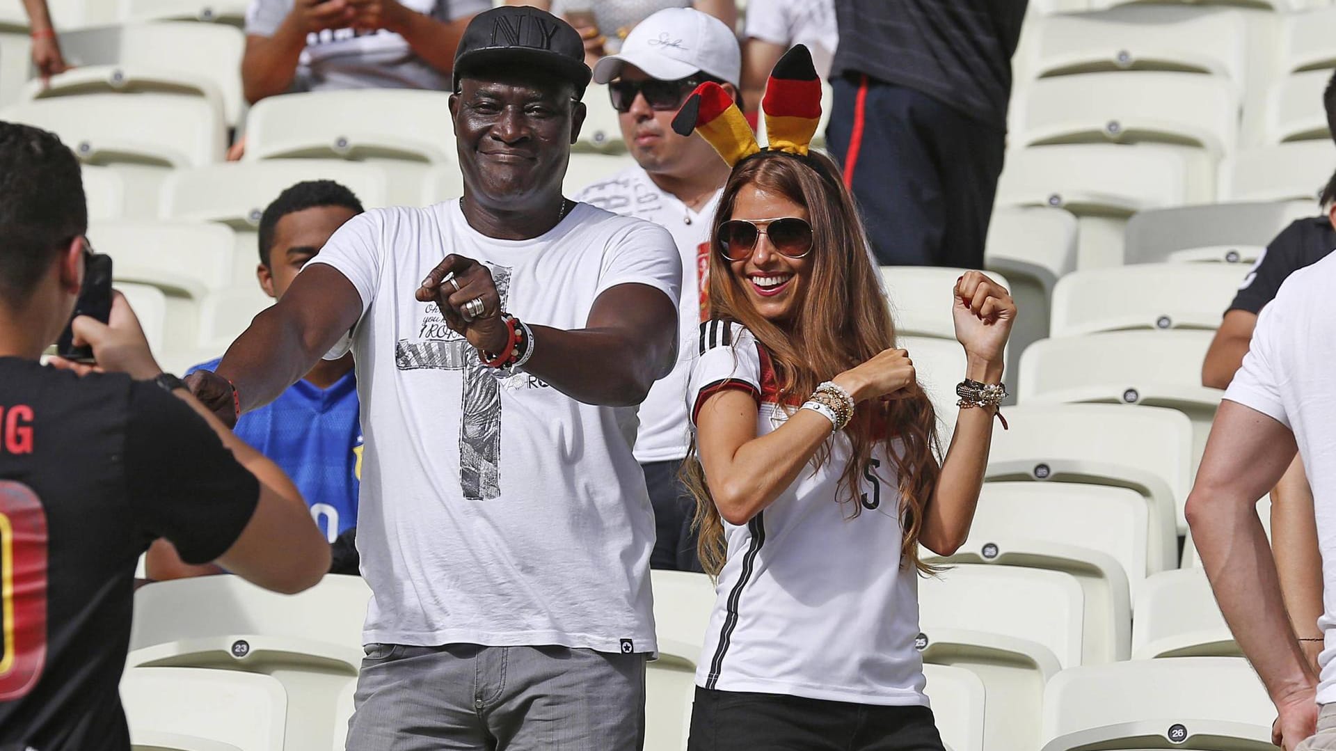
<instances>
[{"instance_id":1,"label":"black NY cap on the pointing man's head","mask_svg":"<svg viewBox=\"0 0 1336 751\"><path fill-rule=\"evenodd\" d=\"M580 32L546 11L529 5L502 5L484 11L469 21L454 52L453 86L460 73L485 72L489 65L532 64L573 84L582 95L591 71L584 63Z\"/></svg>"}]
</instances>

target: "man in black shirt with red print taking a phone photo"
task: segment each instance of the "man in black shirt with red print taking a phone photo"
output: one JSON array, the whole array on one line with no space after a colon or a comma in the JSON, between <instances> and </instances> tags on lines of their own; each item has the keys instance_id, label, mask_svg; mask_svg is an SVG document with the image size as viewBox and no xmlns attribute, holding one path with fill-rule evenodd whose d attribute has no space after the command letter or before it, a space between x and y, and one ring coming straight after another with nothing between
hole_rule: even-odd
<instances>
[{"instance_id":1,"label":"man in black shirt with red print taking a phone photo","mask_svg":"<svg viewBox=\"0 0 1336 751\"><path fill-rule=\"evenodd\" d=\"M0 748L128 751L118 684L135 563L162 536L297 592L329 544L297 488L158 366L119 294L75 319L96 366L39 358L91 254L79 163L0 122Z\"/></svg>"}]
</instances>

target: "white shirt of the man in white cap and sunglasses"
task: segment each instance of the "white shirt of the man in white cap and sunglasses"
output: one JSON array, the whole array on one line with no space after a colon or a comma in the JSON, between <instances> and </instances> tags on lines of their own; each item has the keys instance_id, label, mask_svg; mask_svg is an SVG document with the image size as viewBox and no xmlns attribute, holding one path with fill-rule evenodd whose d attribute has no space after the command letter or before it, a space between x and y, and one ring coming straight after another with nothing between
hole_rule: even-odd
<instances>
[{"instance_id":1,"label":"white shirt of the man in white cap and sunglasses","mask_svg":"<svg viewBox=\"0 0 1336 751\"><path fill-rule=\"evenodd\" d=\"M656 381L640 405L636 461L641 464L685 458L691 445L684 394L696 354L696 334L708 310L703 290L709 269L709 224L721 192L723 187L699 208L691 208L676 195L655 184L643 167L635 166L593 183L576 195L576 200L667 229L681 257L681 305L677 310L681 343L672 373Z\"/></svg>"}]
</instances>

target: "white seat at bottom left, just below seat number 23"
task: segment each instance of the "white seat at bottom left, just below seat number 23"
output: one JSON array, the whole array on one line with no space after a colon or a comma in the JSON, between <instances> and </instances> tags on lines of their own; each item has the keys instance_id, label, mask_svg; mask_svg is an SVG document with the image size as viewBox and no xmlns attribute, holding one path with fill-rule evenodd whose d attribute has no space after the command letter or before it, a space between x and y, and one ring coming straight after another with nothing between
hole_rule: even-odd
<instances>
[{"instance_id":1,"label":"white seat at bottom left, just below seat number 23","mask_svg":"<svg viewBox=\"0 0 1336 751\"><path fill-rule=\"evenodd\" d=\"M162 740L151 739L170 734L168 739L171 735L202 738L238 751L283 751L289 698L283 684L267 675L130 668L120 679L120 702L134 746L146 746L147 740L160 748Z\"/></svg>"}]
</instances>

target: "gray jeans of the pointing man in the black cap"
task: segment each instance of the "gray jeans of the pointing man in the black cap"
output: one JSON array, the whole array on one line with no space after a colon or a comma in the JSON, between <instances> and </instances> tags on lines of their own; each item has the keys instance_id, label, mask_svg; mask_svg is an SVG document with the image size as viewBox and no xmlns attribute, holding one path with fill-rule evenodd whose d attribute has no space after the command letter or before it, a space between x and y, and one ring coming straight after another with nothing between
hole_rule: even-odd
<instances>
[{"instance_id":1,"label":"gray jeans of the pointing man in the black cap","mask_svg":"<svg viewBox=\"0 0 1336 751\"><path fill-rule=\"evenodd\" d=\"M370 644L347 751L640 751L645 655Z\"/></svg>"}]
</instances>

